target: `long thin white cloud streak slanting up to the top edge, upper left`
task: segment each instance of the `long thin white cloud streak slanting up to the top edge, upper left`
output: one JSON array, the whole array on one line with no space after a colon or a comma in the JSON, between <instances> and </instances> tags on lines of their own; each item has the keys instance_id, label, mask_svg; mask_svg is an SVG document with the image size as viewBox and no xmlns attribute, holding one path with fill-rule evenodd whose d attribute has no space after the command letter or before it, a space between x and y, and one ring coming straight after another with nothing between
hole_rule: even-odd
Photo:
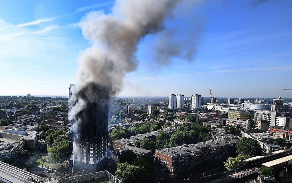
<instances>
[{"instance_id":1,"label":"long thin white cloud streak slanting up to the top edge, upper left","mask_svg":"<svg viewBox=\"0 0 292 183\"><path fill-rule=\"evenodd\" d=\"M59 18L76 15L76 14L84 12L84 11L88 11L88 10L91 10L91 9L94 9L94 8L100 8L100 7L107 6L107 5L110 5L110 4L113 4L113 3L114 3L113 1L106 1L106 2L103 2L103 3L93 4L93 5L90 5L90 6L84 6L84 7L76 9L72 13L67 13L67 14L64 14L64 15L61 15L61 16L57 16L57 17L39 18L39 19L31 21L31 22L18 24L17 26L18 27L25 27L25 26L30 26L30 25L38 25L38 24L44 23L44 22L51 22L51 21L59 19Z\"/></svg>"}]
</instances>

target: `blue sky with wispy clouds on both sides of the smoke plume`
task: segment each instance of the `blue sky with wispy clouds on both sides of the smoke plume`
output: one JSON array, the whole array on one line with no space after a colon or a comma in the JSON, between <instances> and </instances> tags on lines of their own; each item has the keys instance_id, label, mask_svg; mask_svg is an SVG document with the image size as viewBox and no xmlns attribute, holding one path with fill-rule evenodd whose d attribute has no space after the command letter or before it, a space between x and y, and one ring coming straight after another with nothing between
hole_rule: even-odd
<instances>
[{"instance_id":1,"label":"blue sky with wispy clouds on both sides of the smoke plume","mask_svg":"<svg viewBox=\"0 0 292 183\"><path fill-rule=\"evenodd\" d=\"M187 1L190 2L190 1ZM192 1L179 5L166 30L197 40L194 59L157 64L154 42L138 46L138 69L121 96L287 97L292 88L292 1ZM0 6L0 95L67 95L78 58L91 46L78 26L89 11L114 1L3 1ZM200 31L198 31L200 30ZM288 93L292 98L292 92Z\"/></svg>"}]
</instances>

